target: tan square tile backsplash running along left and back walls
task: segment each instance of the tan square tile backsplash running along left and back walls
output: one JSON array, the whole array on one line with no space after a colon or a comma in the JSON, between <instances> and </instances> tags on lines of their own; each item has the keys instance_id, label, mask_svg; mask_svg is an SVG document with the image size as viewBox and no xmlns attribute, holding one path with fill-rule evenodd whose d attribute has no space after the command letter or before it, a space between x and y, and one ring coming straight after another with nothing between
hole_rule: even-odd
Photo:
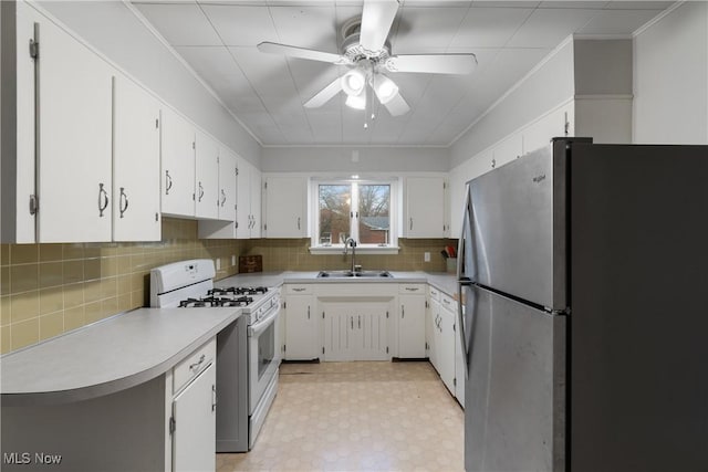
<instances>
[{"instance_id":1,"label":"tan square tile backsplash running along left and back walls","mask_svg":"<svg viewBox=\"0 0 708 472\"><path fill-rule=\"evenodd\" d=\"M357 255L364 269L442 272L449 240L399 240L396 255ZM163 219L159 242L0 244L0 353L9 353L149 305L150 269L220 259L217 279L238 272L231 256L261 254L263 271L345 269L342 254L312 255L309 239L200 240L197 222ZM430 252L430 262L424 253Z\"/></svg>"}]
</instances>

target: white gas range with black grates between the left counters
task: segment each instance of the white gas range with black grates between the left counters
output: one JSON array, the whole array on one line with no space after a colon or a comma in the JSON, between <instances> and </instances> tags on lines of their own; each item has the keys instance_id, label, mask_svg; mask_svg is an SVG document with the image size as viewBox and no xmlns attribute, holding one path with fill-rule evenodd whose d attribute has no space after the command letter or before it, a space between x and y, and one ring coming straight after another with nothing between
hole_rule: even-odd
<instances>
[{"instance_id":1,"label":"white gas range with black grates between the left counters","mask_svg":"<svg viewBox=\"0 0 708 472\"><path fill-rule=\"evenodd\" d=\"M239 310L217 336L217 452L244 452L256 442L278 392L280 292L257 286L214 286L210 259L150 271L150 306Z\"/></svg>"}]
</instances>

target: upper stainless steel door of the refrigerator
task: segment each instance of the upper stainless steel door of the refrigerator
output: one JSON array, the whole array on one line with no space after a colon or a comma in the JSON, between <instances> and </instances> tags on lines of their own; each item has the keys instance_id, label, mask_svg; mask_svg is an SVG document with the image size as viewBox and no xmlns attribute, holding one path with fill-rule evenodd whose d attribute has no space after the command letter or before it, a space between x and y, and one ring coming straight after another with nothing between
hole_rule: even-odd
<instances>
[{"instance_id":1,"label":"upper stainless steel door of the refrigerator","mask_svg":"<svg viewBox=\"0 0 708 472\"><path fill-rule=\"evenodd\" d=\"M475 282L558 311L568 306L564 149L556 143L471 180L466 248Z\"/></svg>"}]
</instances>

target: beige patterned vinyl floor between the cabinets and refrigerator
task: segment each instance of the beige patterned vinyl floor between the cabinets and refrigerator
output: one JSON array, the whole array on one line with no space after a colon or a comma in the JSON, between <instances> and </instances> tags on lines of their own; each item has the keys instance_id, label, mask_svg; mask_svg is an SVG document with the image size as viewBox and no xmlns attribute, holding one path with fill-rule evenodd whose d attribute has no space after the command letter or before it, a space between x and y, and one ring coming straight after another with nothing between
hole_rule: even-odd
<instances>
[{"instance_id":1,"label":"beige patterned vinyl floor between the cabinets and refrigerator","mask_svg":"<svg viewBox=\"0 0 708 472\"><path fill-rule=\"evenodd\" d=\"M254 448L217 471L461 471L464 428L427 361L283 364Z\"/></svg>"}]
</instances>

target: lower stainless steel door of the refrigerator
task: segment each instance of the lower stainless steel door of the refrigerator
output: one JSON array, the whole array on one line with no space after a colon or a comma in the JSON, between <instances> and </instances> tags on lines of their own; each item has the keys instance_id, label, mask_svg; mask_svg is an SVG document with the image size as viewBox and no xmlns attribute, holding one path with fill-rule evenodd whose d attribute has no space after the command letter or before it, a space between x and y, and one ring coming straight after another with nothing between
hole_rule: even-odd
<instances>
[{"instance_id":1,"label":"lower stainless steel door of the refrigerator","mask_svg":"<svg viewBox=\"0 0 708 472\"><path fill-rule=\"evenodd\" d=\"M565 470L565 317L464 286L465 469Z\"/></svg>"}]
</instances>

